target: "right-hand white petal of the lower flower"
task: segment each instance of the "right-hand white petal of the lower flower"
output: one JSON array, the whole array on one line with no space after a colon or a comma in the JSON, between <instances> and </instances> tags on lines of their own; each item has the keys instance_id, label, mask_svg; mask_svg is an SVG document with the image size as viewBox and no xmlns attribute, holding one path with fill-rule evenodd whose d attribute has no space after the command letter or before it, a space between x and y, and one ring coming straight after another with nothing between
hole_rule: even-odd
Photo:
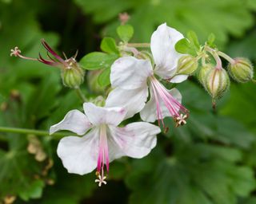
<instances>
[{"instance_id":1,"label":"right-hand white petal of the lower flower","mask_svg":"<svg viewBox=\"0 0 256 204\"><path fill-rule=\"evenodd\" d=\"M110 127L111 146L109 150L118 152L110 155L110 159L117 159L120 155L132 158L142 158L150 153L157 143L156 135L160 128L153 124L138 122L126 125L124 128ZM113 140L111 140L113 139ZM121 153L122 152L122 153Z\"/></svg>"}]
</instances>

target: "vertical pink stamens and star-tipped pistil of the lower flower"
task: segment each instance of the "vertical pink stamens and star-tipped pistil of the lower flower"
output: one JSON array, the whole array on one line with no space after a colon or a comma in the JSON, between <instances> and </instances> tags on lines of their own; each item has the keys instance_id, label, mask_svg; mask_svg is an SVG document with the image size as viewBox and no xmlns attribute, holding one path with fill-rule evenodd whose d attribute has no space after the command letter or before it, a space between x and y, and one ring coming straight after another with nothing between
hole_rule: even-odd
<instances>
[{"instance_id":1,"label":"vertical pink stamens and star-tipped pistil of the lower flower","mask_svg":"<svg viewBox=\"0 0 256 204\"><path fill-rule=\"evenodd\" d=\"M96 179L95 182L98 182L98 186L102 186L102 183L106 184L106 181L104 181L104 179L106 179L106 176L104 175L104 166L106 165L106 171L108 172L110 164L105 124L100 126L98 147L98 164L96 171L98 179Z\"/></svg>"}]
</instances>

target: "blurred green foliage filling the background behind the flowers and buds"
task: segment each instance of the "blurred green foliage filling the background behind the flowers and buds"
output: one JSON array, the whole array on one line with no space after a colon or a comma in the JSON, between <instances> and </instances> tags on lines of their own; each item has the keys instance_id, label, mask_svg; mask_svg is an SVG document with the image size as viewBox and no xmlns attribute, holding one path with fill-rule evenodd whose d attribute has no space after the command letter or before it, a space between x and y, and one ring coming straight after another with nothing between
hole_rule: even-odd
<instances>
[{"instance_id":1,"label":"blurred green foliage filling the background behind the flowers and buds","mask_svg":"<svg viewBox=\"0 0 256 204\"><path fill-rule=\"evenodd\" d=\"M149 42L162 22L182 33L209 33L233 57L256 62L255 0L0 0L0 126L48 130L72 108L75 92L62 87L59 70L10 57L44 53L40 39L78 60L116 37L118 14L128 12L134 42ZM91 73L87 73L90 76ZM82 91L93 97L91 83ZM94 173L66 173L56 155L58 138L0 132L0 203L256 203L256 85L232 83L211 109L196 80L178 84L190 120L158 135L144 159L111 163L109 183L98 189ZM86 162L86 161L85 161Z\"/></svg>"}]
</instances>

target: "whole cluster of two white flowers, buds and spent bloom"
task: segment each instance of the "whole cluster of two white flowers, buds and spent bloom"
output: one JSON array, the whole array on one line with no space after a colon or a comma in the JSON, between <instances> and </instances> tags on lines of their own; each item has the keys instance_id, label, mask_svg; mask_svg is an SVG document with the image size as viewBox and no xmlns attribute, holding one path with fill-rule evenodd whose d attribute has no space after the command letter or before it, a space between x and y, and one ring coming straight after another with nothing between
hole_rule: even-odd
<instances>
[{"instance_id":1,"label":"whole cluster of two white flowers, buds and spent bloom","mask_svg":"<svg viewBox=\"0 0 256 204\"><path fill-rule=\"evenodd\" d=\"M106 184L106 173L109 163L124 155L132 158L142 158L150 153L156 145L156 135L161 132L161 125L165 131L167 127L163 119L167 116L174 118L176 127L186 124L189 111L182 106L182 95L177 88L167 89L162 83L180 83L198 69L198 59L202 58L202 69L198 74L199 80L210 95L215 98L224 92L229 84L226 73L223 74L217 51L205 46L198 52L198 57L187 53L178 53L175 45L184 37L176 29L158 26L150 40L150 57L136 57L130 54L114 61L110 71L110 82L113 90L106 98L104 107L93 103L84 103L84 113L72 110L66 114L58 124L50 127L50 134L55 131L73 131L80 136L67 136L58 143L58 156L64 167L70 173L84 175L94 171L98 179L98 186ZM41 61L46 65L58 66L62 69L63 83L77 88L83 82L84 70L75 61L75 57L63 60L46 41L42 45L48 51L49 59L24 57L18 47L11 50L11 56L28 60ZM216 52L215 52L216 51ZM213 53L217 64L206 65L206 52ZM51 57L50 54L53 56ZM224 56L225 57L225 56ZM249 67L246 77L252 79L252 66L241 60L232 60L230 73L234 78L241 78L238 66ZM240 63L240 64L239 64ZM220 71L219 71L220 70ZM219 73L220 72L220 73ZM249 74L248 74L249 72ZM245 78L245 77L243 77ZM224 85L223 85L224 84ZM225 88L223 88L225 86ZM118 127L136 113L140 114L144 122L127 124ZM154 123L158 120L158 126Z\"/></svg>"}]
</instances>

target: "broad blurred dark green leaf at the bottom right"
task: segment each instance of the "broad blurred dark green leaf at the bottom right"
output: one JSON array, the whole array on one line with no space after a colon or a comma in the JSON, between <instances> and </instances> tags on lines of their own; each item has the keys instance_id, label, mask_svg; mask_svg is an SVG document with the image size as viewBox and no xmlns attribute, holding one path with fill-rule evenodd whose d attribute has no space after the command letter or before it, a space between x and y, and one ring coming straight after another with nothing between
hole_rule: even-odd
<instances>
[{"instance_id":1,"label":"broad blurred dark green leaf at the bottom right","mask_svg":"<svg viewBox=\"0 0 256 204\"><path fill-rule=\"evenodd\" d=\"M216 146L203 145L176 145L170 157L156 147L147 158L134 160L126 177L130 203L235 204L237 196L254 190L252 169L234 163L241 161L240 153L227 149L220 154ZM226 153L237 159L226 159Z\"/></svg>"}]
</instances>

